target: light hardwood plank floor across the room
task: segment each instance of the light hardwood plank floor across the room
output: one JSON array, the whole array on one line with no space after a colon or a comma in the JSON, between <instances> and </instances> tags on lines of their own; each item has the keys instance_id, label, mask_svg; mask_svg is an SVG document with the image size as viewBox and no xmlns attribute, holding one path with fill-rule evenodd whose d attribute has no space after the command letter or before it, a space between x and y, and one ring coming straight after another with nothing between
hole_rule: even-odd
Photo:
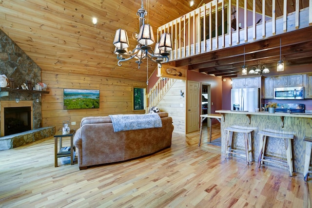
<instances>
[{"instance_id":1,"label":"light hardwood plank floor across the room","mask_svg":"<svg viewBox=\"0 0 312 208\"><path fill-rule=\"evenodd\" d=\"M169 149L87 170L77 161L55 168L53 137L0 151L0 207L310 207L312 175L305 182L301 173L226 160L207 144L207 128L200 147L198 138L174 133Z\"/></svg>"}]
</instances>

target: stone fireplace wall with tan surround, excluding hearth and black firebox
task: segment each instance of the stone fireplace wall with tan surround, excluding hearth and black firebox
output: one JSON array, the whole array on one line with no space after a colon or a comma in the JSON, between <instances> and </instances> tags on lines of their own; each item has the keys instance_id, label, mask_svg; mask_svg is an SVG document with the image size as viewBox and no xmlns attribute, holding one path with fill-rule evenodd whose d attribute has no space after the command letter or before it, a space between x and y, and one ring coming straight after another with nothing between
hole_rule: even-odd
<instances>
[{"instance_id":1,"label":"stone fireplace wall with tan surround, excluding hearth and black firebox","mask_svg":"<svg viewBox=\"0 0 312 208\"><path fill-rule=\"evenodd\" d=\"M13 90L0 91L0 136L4 136L4 108L31 107L31 130L41 128L41 96L32 92L35 84L41 82L41 69L2 30L0 30L0 74L8 77L7 88ZM21 90L23 83L30 83L29 91ZM19 88L20 90L16 90ZM17 97L20 99L18 103Z\"/></svg>"}]
</instances>

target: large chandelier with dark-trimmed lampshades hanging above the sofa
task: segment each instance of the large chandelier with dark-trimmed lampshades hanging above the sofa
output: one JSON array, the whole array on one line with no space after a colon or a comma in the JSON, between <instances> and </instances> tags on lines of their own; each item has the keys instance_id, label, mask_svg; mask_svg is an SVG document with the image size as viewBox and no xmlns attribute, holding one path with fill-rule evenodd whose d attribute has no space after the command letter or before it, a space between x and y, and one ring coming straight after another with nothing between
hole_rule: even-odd
<instances>
[{"instance_id":1,"label":"large chandelier with dark-trimmed lampshades hanging above the sofa","mask_svg":"<svg viewBox=\"0 0 312 208\"><path fill-rule=\"evenodd\" d=\"M113 44L116 47L114 53L117 54L118 66L121 66L123 61L132 58L137 59L138 69L145 58L147 61L150 59L160 65L169 61L169 51L172 51L171 34L161 34L160 41L155 44L153 51L150 46L155 43L153 28L150 24L145 24L145 15L147 15L147 11L143 7L143 0L141 0L141 8L137 10L140 30L139 33L134 32L132 35L134 39L137 39L137 46L132 51L128 51L129 41L126 30L117 29Z\"/></svg>"}]
</instances>

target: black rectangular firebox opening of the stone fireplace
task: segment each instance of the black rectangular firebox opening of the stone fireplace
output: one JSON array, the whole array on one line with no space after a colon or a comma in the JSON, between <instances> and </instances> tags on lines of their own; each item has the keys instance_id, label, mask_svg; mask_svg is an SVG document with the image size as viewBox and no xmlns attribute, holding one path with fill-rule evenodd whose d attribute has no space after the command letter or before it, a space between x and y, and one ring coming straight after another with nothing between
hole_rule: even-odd
<instances>
[{"instance_id":1,"label":"black rectangular firebox opening of the stone fireplace","mask_svg":"<svg viewBox=\"0 0 312 208\"><path fill-rule=\"evenodd\" d=\"M4 135L31 130L31 107L4 108Z\"/></svg>"}]
</instances>

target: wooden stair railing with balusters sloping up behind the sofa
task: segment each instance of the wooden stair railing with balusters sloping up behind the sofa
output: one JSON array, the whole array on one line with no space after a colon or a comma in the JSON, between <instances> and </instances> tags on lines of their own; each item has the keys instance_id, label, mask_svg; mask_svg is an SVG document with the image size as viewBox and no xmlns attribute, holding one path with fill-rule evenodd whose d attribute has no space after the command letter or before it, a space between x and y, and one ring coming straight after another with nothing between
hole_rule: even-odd
<instances>
[{"instance_id":1,"label":"wooden stair railing with balusters sloping up behind the sofa","mask_svg":"<svg viewBox=\"0 0 312 208\"><path fill-rule=\"evenodd\" d=\"M147 95L147 109L157 106L160 100L176 82L176 79L159 77L158 81Z\"/></svg>"}]
</instances>

